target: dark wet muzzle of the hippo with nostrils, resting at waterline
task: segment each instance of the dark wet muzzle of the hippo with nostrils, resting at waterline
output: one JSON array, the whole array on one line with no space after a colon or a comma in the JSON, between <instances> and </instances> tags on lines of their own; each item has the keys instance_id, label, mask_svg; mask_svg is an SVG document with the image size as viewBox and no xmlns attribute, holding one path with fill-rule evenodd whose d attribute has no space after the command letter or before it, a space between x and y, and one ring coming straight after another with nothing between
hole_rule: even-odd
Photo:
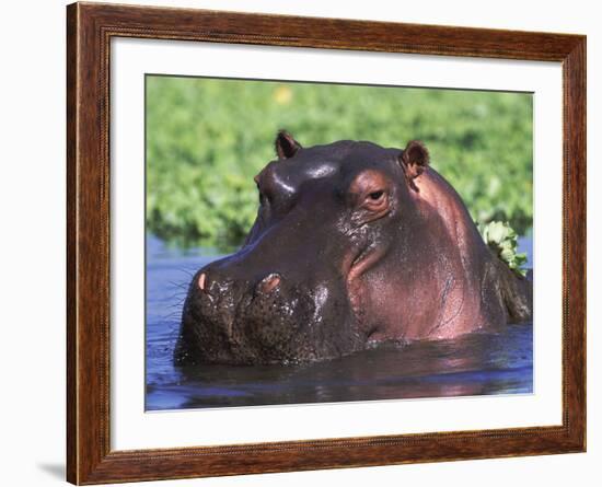
<instances>
[{"instance_id":1,"label":"dark wet muzzle of the hippo with nostrils, resting at waterline","mask_svg":"<svg viewBox=\"0 0 602 487\"><path fill-rule=\"evenodd\" d=\"M279 273L232 278L228 267L227 258L195 275L184 304L177 364L298 363L357 348L352 339L328 336L345 333L339 311L348 306L329 299L326 285L291 282Z\"/></svg>"}]
</instances>

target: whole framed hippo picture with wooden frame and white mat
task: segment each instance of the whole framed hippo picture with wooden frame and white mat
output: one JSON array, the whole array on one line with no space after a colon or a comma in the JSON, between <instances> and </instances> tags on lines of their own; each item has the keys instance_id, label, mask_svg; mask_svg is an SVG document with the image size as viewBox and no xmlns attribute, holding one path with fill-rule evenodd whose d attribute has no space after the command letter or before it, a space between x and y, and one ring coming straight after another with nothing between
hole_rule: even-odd
<instances>
[{"instance_id":1,"label":"whole framed hippo picture with wooden frame and white mat","mask_svg":"<svg viewBox=\"0 0 602 487\"><path fill-rule=\"evenodd\" d=\"M586 38L73 3L67 477L586 450Z\"/></svg>"}]
</instances>

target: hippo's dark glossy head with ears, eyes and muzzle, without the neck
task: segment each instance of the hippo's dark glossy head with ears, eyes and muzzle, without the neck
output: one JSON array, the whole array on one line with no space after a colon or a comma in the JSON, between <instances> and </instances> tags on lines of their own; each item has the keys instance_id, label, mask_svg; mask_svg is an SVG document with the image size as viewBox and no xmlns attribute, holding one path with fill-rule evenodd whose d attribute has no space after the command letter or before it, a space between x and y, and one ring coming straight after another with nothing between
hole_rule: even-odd
<instances>
[{"instance_id":1,"label":"hippo's dark glossy head with ears, eyes and muzzle, without the neck","mask_svg":"<svg viewBox=\"0 0 602 487\"><path fill-rule=\"evenodd\" d=\"M276 153L255 176L242 248L193 278L177 364L314 361L369 341L355 282L393 246L428 153L417 141L302 148L286 131Z\"/></svg>"}]
</instances>

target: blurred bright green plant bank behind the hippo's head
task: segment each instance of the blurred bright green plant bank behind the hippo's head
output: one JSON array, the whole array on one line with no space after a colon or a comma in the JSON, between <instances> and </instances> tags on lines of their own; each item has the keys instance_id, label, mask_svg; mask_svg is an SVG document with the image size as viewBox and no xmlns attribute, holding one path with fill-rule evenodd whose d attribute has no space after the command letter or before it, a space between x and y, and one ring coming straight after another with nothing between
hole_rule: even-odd
<instances>
[{"instance_id":1,"label":"blurred bright green plant bank behind the hippo's head","mask_svg":"<svg viewBox=\"0 0 602 487\"><path fill-rule=\"evenodd\" d=\"M530 94L150 76L148 230L180 245L240 245L257 208L253 176L286 128L303 146L420 139L477 222L522 234L533 217L532 118Z\"/></svg>"}]
</instances>

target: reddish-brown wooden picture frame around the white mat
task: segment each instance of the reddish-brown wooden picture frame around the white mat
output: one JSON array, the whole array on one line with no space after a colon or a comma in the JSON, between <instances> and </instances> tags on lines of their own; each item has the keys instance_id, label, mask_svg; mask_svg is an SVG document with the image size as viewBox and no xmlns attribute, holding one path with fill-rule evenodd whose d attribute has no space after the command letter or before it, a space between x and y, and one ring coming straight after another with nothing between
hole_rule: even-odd
<instances>
[{"instance_id":1,"label":"reddish-brown wooden picture frame around the white mat","mask_svg":"<svg viewBox=\"0 0 602 487\"><path fill-rule=\"evenodd\" d=\"M563 424L112 451L112 37L559 61L564 77ZM101 3L67 8L67 479L73 484L370 466L586 450L586 37Z\"/></svg>"}]
</instances>

